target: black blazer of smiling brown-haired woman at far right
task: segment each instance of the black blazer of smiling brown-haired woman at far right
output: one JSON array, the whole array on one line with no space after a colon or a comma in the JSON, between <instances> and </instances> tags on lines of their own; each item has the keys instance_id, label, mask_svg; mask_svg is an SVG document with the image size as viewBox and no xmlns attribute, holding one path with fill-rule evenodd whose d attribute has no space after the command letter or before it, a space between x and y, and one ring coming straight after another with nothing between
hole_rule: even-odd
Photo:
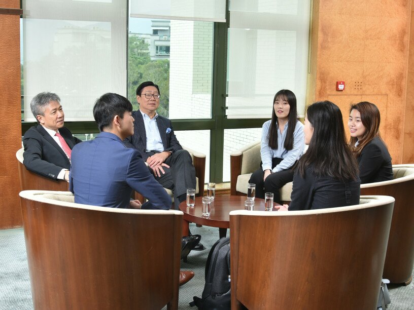
<instances>
[{"instance_id":1,"label":"black blazer of smiling brown-haired woman at far right","mask_svg":"<svg viewBox=\"0 0 414 310\"><path fill-rule=\"evenodd\" d=\"M362 184L389 181L394 178L390 153L378 137L364 146L357 160Z\"/></svg>"}]
</instances>

